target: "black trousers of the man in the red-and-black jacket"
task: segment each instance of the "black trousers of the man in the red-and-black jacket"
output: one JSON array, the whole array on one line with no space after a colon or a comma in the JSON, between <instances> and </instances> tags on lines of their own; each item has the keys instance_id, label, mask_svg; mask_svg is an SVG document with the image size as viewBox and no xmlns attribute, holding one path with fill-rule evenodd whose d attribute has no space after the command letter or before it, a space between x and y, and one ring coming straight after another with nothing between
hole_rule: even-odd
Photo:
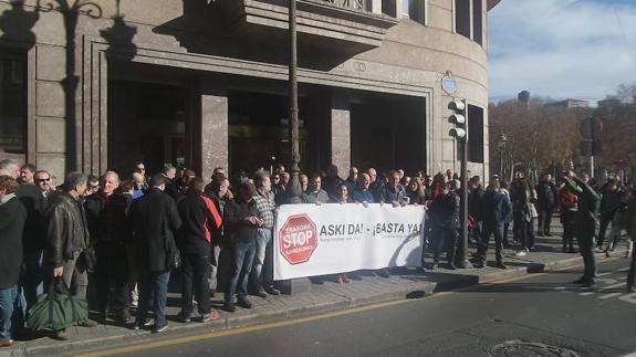
<instances>
[{"instance_id":1,"label":"black trousers of the man in the red-and-black jacket","mask_svg":"<svg viewBox=\"0 0 636 357\"><path fill-rule=\"evenodd\" d=\"M181 256L181 314L192 314L192 295L198 303L200 315L210 313L210 253L211 249ZM194 294L192 294L194 293Z\"/></svg>"}]
</instances>

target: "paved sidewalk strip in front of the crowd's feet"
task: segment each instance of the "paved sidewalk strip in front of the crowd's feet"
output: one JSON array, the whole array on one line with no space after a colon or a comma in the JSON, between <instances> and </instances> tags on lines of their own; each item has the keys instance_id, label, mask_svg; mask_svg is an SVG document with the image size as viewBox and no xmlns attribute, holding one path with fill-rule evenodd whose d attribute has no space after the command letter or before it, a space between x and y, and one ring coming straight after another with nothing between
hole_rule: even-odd
<instances>
[{"instance_id":1,"label":"paved sidewalk strip in front of the crowd's feet","mask_svg":"<svg viewBox=\"0 0 636 357\"><path fill-rule=\"evenodd\" d=\"M553 221L557 221L556 219ZM239 326L261 324L272 321L283 321L306 315L343 309L365 304L402 300L408 297L421 297L436 292L452 291L479 283L493 282L502 279L521 276L528 273L556 270L573 264L582 263L578 253L561 252L561 227L553 227L554 237L538 238L533 251L526 256L514 256L514 251L504 250L507 270L493 267L494 252L489 250L489 266L483 269L447 270L440 264L435 271L415 269L394 269L392 276L379 277L373 272L358 272L352 274L356 280L350 284L337 284L326 281L324 284L312 285L311 293L300 295L279 295L260 298L250 296L252 309L237 307L236 313L221 312L221 318L206 324L192 322L181 324L174 321L179 312L180 296L170 294L168 298L168 319L170 327L160 336L150 335L147 330L135 332L123 327L112 321L95 328L72 327L69 328L72 336L67 342L58 342L49 337L41 337L28 342L18 342L10 348L0 349L0 357L22 355L65 355L81 351L91 347L108 345L116 347L119 344L156 340L165 337L174 337L189 333L206 333L223 330ZM510 240L510 237L509 237ZM624 256L624 243L612 256ZM475 248L469 249L469 253ZM598 262L605 260L604 253L597 253ZM427 260L429 263L430 260ZM217 293L212 298L215 307L222 304L222 294Z\"/></svg>"}]
</instances>

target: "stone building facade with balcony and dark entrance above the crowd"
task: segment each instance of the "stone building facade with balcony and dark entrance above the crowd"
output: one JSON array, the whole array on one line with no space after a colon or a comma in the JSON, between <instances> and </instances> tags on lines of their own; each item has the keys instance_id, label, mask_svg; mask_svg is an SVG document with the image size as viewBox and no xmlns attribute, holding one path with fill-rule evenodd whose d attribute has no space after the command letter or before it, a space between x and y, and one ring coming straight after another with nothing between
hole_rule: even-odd
<instances>
[{"instance_id":1,"label":"stone building facade with balcony and dark entrance above the crowd","mask_svg":"<svg viewBox=\"0 0 636 357\"><path fill-rule=\"evenodd\" d=\"M301 167L488 175L496 0L298 0ZM0 156L62 177L286 164L286 0L0 1ZM346 176L346 174L345 174Z\"/></svg>"}]
</instances>

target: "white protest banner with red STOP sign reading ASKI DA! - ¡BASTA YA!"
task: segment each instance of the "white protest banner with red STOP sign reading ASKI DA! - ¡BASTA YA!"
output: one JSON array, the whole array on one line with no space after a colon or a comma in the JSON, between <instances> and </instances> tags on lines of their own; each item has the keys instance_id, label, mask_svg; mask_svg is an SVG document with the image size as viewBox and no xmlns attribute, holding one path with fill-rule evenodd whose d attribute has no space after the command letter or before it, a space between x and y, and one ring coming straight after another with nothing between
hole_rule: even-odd
<instances>
[{"instance_id":1,"label":"white protest banner with red STOP sign reading ASKI DA! - \u00a1BASTA YA!","mask_svg":"<svg viewBox=\"0 0 636 357\"><path fill-rule=\"evenodd\" d=\"M274 280L420 266L423 206L283 204L274 225Z\"/></svg>"}]
</instances>

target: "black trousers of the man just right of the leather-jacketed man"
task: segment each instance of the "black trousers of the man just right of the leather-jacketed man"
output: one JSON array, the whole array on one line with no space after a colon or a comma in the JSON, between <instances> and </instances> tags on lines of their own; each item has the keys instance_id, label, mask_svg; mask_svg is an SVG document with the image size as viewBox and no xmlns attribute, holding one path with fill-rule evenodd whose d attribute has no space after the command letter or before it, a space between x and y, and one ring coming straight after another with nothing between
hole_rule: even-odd
<instances>
[{"instance_id":1,"label":"black trousers of the man just right of the leather-jacketed man","mask_svg":"<svg viewBox=\"0 0 636 357\"><path fill-rule=\"evenodd\" d=\"M126 249L114 242L98 242L95 246L97 266L95 277L97 280L97 308L101 313L106 312L108 302L112 306L123 308L131 307L128 296L128 259ZM110 292L112 291L112 296Z\"/></svg>"}]
</instances>

